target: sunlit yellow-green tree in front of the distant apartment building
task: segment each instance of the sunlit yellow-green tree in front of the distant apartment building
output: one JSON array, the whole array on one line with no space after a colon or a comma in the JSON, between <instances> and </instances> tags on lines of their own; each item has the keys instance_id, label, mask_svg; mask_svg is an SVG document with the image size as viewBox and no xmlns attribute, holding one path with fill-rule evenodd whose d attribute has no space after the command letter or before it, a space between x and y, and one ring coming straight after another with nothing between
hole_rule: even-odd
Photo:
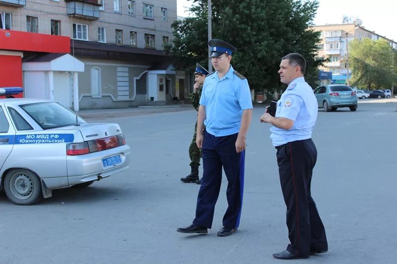
<instances>
[{"instance_id":1,"label":"sunlit yellow-green tree in front of the distant apartment building","mask_svg":"<svg viewBox=\"0 0 397 264\"><path fill-rule=\"evenodd\" d=\"M393 49L386 40L353 40L349 43L351 82L358 87L390 89L396 81Z\"/></svg>"}]
</instances>

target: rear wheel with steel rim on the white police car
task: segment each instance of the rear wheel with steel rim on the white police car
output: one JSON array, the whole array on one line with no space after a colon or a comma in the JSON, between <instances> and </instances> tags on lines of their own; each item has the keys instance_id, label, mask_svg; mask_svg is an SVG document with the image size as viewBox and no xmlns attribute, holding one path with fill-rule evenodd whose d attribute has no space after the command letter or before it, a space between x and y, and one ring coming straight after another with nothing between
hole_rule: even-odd
<instances>
[{"instance_id":1,"label":"rear wheel with steel rim on the white police car","mask_svg":"<svg viewBox=\"0 0 397 264\"><path fill-rule=\"evenodd\" d=\"M5 174L4 191L17 205L33 205L43 198L39 177L27 169L12 169Z\"/></svg>"}]
</instances>

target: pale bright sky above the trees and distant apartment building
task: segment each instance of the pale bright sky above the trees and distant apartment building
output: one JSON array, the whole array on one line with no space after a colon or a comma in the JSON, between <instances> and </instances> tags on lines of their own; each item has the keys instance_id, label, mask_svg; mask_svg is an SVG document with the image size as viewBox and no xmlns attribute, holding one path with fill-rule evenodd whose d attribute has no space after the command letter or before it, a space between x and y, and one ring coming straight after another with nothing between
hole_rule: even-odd
<instances>
[{"instance_id":1,"label":"pale bright sky above the trees and distant apartment building","mask_svg":"<svg viewBox=\"0 0 397 264\"><path fill-rule=\"evenodd\" d=\"M396 0L319 0L320 6L315 19L316 25L339 24L342 16L360 18L366 29L386 36L397 42ZM192 5L191 0L177 0L177 13L188 16L184 6Z\"/></svg>"}]
</instances>

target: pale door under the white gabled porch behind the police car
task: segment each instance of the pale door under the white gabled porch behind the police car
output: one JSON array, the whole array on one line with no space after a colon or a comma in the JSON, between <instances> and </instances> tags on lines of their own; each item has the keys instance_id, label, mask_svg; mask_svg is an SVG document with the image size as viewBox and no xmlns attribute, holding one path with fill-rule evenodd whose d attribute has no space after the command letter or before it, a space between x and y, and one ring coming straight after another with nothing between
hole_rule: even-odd
<instances>
[{"instance_id":1,"label":"pale door under the white gabled porch behind the police car","mask_svg":"<svg viewBox=\"0 0 397 264\"><path fill-rule=\"evenodd\" d=\"M72 107L71 80L69 72L54 71L54 101L65 107Z\"/></svg>"}]
</instances>

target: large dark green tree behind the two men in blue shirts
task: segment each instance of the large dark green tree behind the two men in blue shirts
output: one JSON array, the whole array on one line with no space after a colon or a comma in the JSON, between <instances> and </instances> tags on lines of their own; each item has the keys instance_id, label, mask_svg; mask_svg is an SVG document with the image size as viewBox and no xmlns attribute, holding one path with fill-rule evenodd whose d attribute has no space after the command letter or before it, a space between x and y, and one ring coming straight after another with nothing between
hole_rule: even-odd
<instances>
[{"instance_id":1,"label":"large dark green tree behind the two men in blue shirts","mask_svg":"<svg viewBox=\"0 0 397 264\"><path fill-rule=\"evenodd\" d=\"M180 69L207 65L207 0L194 0L193 17L175 21L173 45L167 47ZM317 86L318 32L313 25L318 0L216 0L212 1L212 38L237 48L233 67L247 77L251 88L274 90L281 86L278 69L282 56L301 53L307 60L306 80Z\"/></svg>"}]
</instances>

